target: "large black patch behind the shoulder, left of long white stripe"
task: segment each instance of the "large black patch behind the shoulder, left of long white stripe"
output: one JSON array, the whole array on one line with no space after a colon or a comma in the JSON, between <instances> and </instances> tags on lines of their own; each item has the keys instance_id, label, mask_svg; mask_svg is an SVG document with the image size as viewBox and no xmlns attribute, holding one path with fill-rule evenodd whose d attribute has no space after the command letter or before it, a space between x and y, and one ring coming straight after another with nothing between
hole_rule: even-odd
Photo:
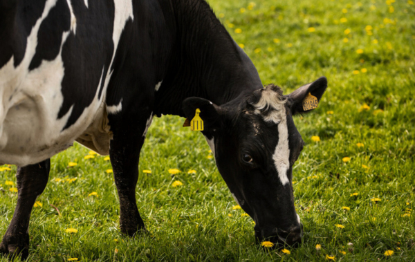
<instances>
[{"instance_id":1,"label":"large black patch behind the shoulder, left of long white stripe","mask_svg":"<svg viewBox=\"0 0 415 262\"><path fill-rule=\"evenodd\" d=\"M115 7L110 1L71 1L76 17L76 34L71 32L62 47L65 75L62 80L64 102L57 118L60 119L73 107L65 127L67 129L89 106L100 79L104 86L113 55L113 21Z\"/></svg>"}]
</instances>

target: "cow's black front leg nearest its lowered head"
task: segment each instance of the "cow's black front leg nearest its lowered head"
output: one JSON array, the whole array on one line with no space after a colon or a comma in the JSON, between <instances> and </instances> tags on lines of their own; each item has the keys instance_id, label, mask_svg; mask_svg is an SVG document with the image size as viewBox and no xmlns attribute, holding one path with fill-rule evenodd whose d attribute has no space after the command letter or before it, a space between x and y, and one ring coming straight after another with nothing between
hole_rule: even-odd
<instances>
[{"instance_id":1,"label":"cow's black front leg nearest its lowered head","mask_svg":"<svg viewBox=\"0 0 415 262\"><path fill-rule=\"evenodd\" d=\"M138 160L146 126L151 122L150 114L144 115L144 118L143 115L130 115L128 118L109 115L113 131L109 156L120 198L120 230L129 236L147 232L136 204Z\"/></svg>"}]
</instances>

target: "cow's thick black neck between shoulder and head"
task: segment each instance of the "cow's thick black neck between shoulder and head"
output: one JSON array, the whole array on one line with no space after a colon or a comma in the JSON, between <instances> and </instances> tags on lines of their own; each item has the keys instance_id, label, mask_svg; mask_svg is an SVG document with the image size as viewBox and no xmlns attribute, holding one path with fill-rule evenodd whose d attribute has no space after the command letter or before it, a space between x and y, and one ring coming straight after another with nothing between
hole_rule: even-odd
<instances>
[{"instance_id":1,"label":"cow's thick black neck between shoulder and head","mask_svg":"<svg viewBox=\"0 0 415 262\"><path fill-rule=\"evenodd\" d=\"M187 97L225 104L262 87L255 66L205 1L173 3L176 34L155 113L182 115Z\"/></svg>"}]
</instances>

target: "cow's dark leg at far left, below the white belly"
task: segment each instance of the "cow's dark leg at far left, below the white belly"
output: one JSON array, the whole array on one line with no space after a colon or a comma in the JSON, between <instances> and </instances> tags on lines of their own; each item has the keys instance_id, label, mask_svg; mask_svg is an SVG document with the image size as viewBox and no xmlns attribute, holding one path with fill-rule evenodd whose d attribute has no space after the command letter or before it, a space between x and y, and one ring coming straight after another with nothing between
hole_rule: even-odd
<instances>
[{"instance_id":1,"label":"cow's dark leg at far left, below the white belly","mask_svg":"<svg viewBox=\"0 0 415 262\"><path fill-rule=\"evenodd\" d=\"M49 170L49 159L17 168L17 205L12 222L1 241L1 253L11 257L21 254L22 259L28 257L30 213L37 196L42 194L48 183Z\"/></svg>"}]
</instances>

